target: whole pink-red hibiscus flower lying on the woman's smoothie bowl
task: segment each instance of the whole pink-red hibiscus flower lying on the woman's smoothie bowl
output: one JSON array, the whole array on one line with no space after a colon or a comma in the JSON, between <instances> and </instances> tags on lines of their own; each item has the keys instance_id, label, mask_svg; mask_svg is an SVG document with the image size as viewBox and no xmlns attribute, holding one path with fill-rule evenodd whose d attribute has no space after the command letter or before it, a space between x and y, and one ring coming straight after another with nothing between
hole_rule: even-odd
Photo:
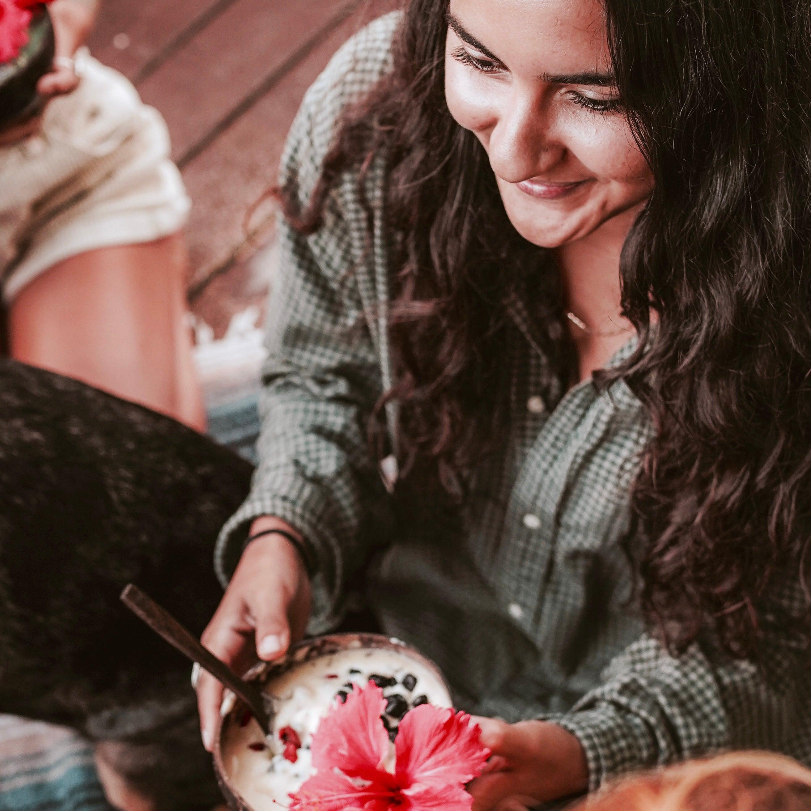
<instances>
[{"instance_id":1,"label":"whole pink-red hibiscus flower lying on the woman's smoothie bowl","mask_svg":"<svg viewBox=\"0 0 811 811\"><path fill-rule=\"evenodd\" d=\"M415 707L400 723L390 763L385 706L383 690L370 683L321 721L312 739L315 776L290 795L290 811L470 811L465 784L490 755L470 716Z\"/></svg>"}]
</instances>

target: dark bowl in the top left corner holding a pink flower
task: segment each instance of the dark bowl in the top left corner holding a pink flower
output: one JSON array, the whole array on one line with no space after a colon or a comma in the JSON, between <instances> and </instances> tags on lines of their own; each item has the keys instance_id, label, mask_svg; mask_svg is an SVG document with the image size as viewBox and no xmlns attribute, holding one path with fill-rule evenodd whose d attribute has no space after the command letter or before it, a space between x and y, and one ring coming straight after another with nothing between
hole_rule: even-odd
<instances>
[{"instance_id":1,"label":"dark bowl in the top left corner holding a pink flower","mask_svg":"<svg viewBox=\"0 0 811 811\"><path fill-rule=\"evenodd\" d=\"M36 83L54 66L54 26L43 6L32 17L28 44L11 62L0 64L0 129L40 112L44 99Z\"/></svg>"}]
</instances>

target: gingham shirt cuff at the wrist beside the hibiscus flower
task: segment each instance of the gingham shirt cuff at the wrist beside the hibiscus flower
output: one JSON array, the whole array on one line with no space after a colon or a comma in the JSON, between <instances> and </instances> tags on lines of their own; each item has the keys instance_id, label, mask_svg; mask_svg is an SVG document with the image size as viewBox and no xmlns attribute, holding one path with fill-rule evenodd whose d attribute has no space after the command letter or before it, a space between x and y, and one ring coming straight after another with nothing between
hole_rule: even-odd
<instances>
[{"instance_id":1,"label":"gingham shirt cuff at the wrist beside the hibiscus flower","mask_svg":"<svg viewBox=\"0 0 811 811\"><path fill-rule=\"evenodd\" d=\"M607 780L656 765L656 740L647 724L610 704L544 715L541 720L556 723L580 741L586 753L590 792Z\"/></svg>"}]
</instances>

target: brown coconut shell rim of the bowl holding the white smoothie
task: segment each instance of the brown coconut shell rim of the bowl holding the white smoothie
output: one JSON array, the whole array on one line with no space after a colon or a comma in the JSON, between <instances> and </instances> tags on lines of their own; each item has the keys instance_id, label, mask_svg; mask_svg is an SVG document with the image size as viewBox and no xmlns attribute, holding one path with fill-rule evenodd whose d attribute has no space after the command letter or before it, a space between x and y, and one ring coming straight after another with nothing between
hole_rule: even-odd
<instances>
[{"instance_id":1,"label":"brown coconut shell rim of the bowl holding the white smoothie","mask_svg":"<svg viewBox=\"0 0 811 811\"><path fill-rule=\"evenodd\" d=\"M290 651L283 659L272 663L263 662L251 668L245 675L245 678L264 688L264 686L272 682L272 680L289 672L294 667L298 667L298 665L311 662L313 659L336 654L341 650L369 649L393 650L398 654L404 655L414 663L425 667L433 676L436 676L436 679L448 692L448 695L450 694L448 684L445 682L439 668L437 668L434 663L426 659L422 654L419 654L414 648L405 645L405 642L384 637L382 634L377 633L335 633L325 637L307 639L290 648ZM225 796L225 800L232 811L258 811L258 809L254 809L251 805L248 805L247 801L240 796L237 787L232 783L228 770L225 767L224 744L227 732L232 726L240 723L240 719L242 719L247 710L247 707L242 702L238 699L234 700L232 694L229 693L229 696L230 698L226 698L223 705L224 708L227 709L221 714L214 736L213 757L214 770L217 773L217 782L220 784L223 796ZM233 705L229 706L232 701Z\"/></svg>"}]
</instances>

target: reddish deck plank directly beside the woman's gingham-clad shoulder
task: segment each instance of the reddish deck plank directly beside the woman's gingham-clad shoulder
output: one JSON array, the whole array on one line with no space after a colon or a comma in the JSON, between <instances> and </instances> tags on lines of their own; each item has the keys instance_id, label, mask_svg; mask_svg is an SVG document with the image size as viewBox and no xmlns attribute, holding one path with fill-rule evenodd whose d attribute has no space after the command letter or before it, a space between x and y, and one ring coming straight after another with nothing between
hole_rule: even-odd
<instances>
[{"instance_id":1,"label":"reddish deck plank directly beside the woman's gingham-clad shoulder","mask_svg":"<svg viewBox=\"0 0 811 811\"><path fill-rule=\"evenodd\" d=\"M183 170L194 201L188 238L191 294L200 293L212 274L244 262L268 242L272 206L260 205L250 223L246 212L276 182L287 131L307 88L329 58L369 19L389 11L393 0L374 0L363 13L345 20L294 70ZM255 232L249 239L247 234Z\"/></svg>"}]
</instances>

